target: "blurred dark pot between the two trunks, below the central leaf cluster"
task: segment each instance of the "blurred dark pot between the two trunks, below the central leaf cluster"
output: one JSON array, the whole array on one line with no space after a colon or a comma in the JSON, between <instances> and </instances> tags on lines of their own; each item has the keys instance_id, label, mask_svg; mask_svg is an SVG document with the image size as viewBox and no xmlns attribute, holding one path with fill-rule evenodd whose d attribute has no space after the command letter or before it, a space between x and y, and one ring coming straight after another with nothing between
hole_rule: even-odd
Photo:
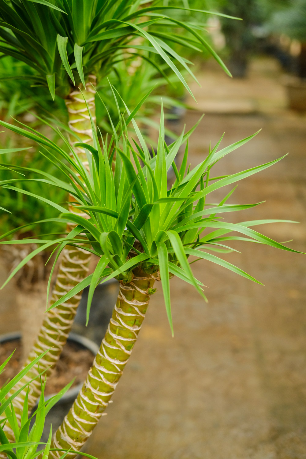
<instances>
[{"instance_id":1,"label":"blurred dark pot between the two trunks, below the central leaf cluster","mask_svg":"<svg viewBox=\"0 0 306 459\"><path fill-rule=\"evenodd\" d=\"M85 288L83 291L72 330L82 336L86 336L100 346L117 301L119 283L116 279L111 279L96 287L90 307L89 323L86 327L88 292L89 287Z\"/></svg>"}]
</instances>

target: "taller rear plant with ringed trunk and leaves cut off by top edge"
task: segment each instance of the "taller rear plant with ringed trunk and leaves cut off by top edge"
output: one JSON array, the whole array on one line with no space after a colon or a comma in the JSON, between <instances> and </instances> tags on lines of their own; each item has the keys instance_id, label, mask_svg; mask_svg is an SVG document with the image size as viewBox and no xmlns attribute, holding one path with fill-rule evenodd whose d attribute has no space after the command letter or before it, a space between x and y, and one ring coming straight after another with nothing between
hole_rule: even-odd
<instances>
[{"instance_id":1,"label":"taller rear plant with ringed trunk and leaves cut off by top edge","mask_svg":"<svg viewBox=\"0 0 306 459\"><path fill-rule=\"evenodd\" d=\"M94 144L95 126L92 128L91 120L95 124L96 80L105 77L116 62L127 59L129 53L132 59L146 53L146 61L157 69L160 67L155 63L154 56L160 56L189 92L177 66L193 74L186 59L172 50L171 44L199 51L205 47L227 71L199 32L198 24L168 15L173 9L188 11L188 8L179 6L177 2L175 6L171 6L171 2L163 6L160 0L148 3L147 7L142 7L142 4L141 0L0 0L0 52L3 56L10 55L27 63L35 73L25 78L30 78L35 85L48 88L52 98L57 94L66 101L72 168L76 164L89 168L90 161L84 145ZM167 26L167 32L160 31L159 27L163 24ZM186 32L184 37L178 32L179 29ZM140 44L135 45L139 38ZM79 147L77 143L83 146ZM83 176L76 174L72 175L73 183L82 189L85 186ZM70 202L75 199L73 193L69 199ZM78 218L87 218L82 210L72 204L69 212ZM68 233L74 225L74 222L67 222ZM47 369L47 375L59 358L80 301L81 291L69 295L69 299L62 298L86 276L90 257L87 248L79 243L65 246L62 251L50 301L51 305L56 304L56 308L45 314L26 361L28 364L37 354L52 347L39 362L40 369ZM20 385L33 379L38 371L38 365L34 365ZM34 406L39 393L40 385L36 379L30 384L29 409ZM26 392L21 391L13 400L18 422L25 395ZM5 428L9 429L9 425L6 424Z\"/></svg>"}]
</instances>

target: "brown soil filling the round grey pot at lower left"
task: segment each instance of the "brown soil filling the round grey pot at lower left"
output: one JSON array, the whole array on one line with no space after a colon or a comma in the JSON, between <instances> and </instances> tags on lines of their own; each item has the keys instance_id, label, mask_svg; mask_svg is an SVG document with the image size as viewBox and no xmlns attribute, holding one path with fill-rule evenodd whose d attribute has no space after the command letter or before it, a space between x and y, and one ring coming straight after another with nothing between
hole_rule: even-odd
<instances>
[{"instance_id":1,"label":"brown soil filling the round grey pot at lower left","mask_svg":"<svg viewBox=\"0 0 306 459\"><path fill-rule=\"evenodd\" d=\"M17 375L20 370L20 362L22 357L22 348L20 340L7 341L0 344L0 362L4 362L11 353L14 351L10 363L7 365L5 371L0 375L0 386L8 380ZM72 384L77 386L86 378L89 368L93 362L94 355L88 349L81 349L78 344L67 342L66 346L61 353L61 357L56 364L56 368L45 388L45 395L50 395L59 392L66 386L73 378L75 381Z\"/></svg>"}]
</instances>

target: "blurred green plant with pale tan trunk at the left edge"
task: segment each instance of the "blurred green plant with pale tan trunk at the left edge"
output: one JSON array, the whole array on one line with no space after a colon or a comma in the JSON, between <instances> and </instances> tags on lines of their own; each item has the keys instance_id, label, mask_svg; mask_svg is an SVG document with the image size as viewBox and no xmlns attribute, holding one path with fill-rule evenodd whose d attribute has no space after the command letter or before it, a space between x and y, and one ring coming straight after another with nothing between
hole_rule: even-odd
<instances>
[{"instance_id":1,"label":"blurred green plant with pale tan trunk at the left edge","mask_svg":"<svg viewBox=\"0 0 306 459\"><path fill-rule=\"evenodd\" d=\"M18 139L16 137L10 136L10 138L10 144L17 144ZM58 138L54 136L54 140L58 141ZM6 153L4 153L5 151ZM31 176L35 176L35 170L43 170L47 174L56 174L57 172L54 165L39 153L36 145L24 149L5 149L3 153L1 160L6 166L0 167L0 180L8 179L9 177L22 178L22 168L27 164L32 169L32 172L28 172L29 179L31 179ZM57 176L61 177L60 172L57 172ZM53 202L65 205L68 197L65 190L56 190L54 187L48 187L45 183L32 180L19 182L16 186L17 188L22 188L25 193L30 194L26 195L9 188L0 188L0 202L2 207L8 211L0 209L0 228L3 233L8 233L8 239L14 241L27 237L29 239L33 239L33 237L39 238L42 233L48 234L48 238L56 237L54 233L62 232L65 234L65 224L53 221L53 218L57 217L56 209L45 205L42 201L39 202L31 196L31 193L45 194ZM43 225L31 225L33 220L39 219L49 219L50 221ZM11 230L25 224L28 225L26 228L10 236ZM1 247L1 262L6 271L11 271L20 260L37 247L37 244L13 244ZM33 339L42 322L45 310L45 281L49 275L49 264L46 265L46 262L51 252L51 249L40 252L18 272L18 276L15 278L14 308L19 318L22 357L24 358L28 357Z\"/></svg>"}]
</instances>

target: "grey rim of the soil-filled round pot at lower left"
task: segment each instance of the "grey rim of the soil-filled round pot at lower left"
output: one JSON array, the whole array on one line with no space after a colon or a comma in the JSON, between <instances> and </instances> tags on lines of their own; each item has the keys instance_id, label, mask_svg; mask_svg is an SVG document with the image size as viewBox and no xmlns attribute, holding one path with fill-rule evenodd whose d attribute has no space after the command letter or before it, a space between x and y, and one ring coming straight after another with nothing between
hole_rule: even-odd
<instances>
[{"instance_id":1,"label":"grey rim of the soil-filled round pot at lower left","mask_svg":"<svg viewBox=\"0 0 306 459\"><path fill-rule=\"evenodd\" d=\"M13 331L11 333L5 333L3 335L0 335L0 343L6 342L6 341L13 341L21 338L21 333L20 331ZM86 349L89 349L90 352L94 354L94 356L98 353L99 351L99 346L94 342L89 340L89 338L86 338L85 336L78 335L78 333L69 333L67 341L72 341L77 344L80 344L81 346L85 347ZM70 389L67 390L67 392L60 398L60 400L57 402L69 402L74 400L78 392L82 389L83 382L80 382L77 384L77 386L71 387ZM46 395L45 396L45 401L50 400L50 398L54 397L56 393Z\"/></svg>"}]
</instances>

